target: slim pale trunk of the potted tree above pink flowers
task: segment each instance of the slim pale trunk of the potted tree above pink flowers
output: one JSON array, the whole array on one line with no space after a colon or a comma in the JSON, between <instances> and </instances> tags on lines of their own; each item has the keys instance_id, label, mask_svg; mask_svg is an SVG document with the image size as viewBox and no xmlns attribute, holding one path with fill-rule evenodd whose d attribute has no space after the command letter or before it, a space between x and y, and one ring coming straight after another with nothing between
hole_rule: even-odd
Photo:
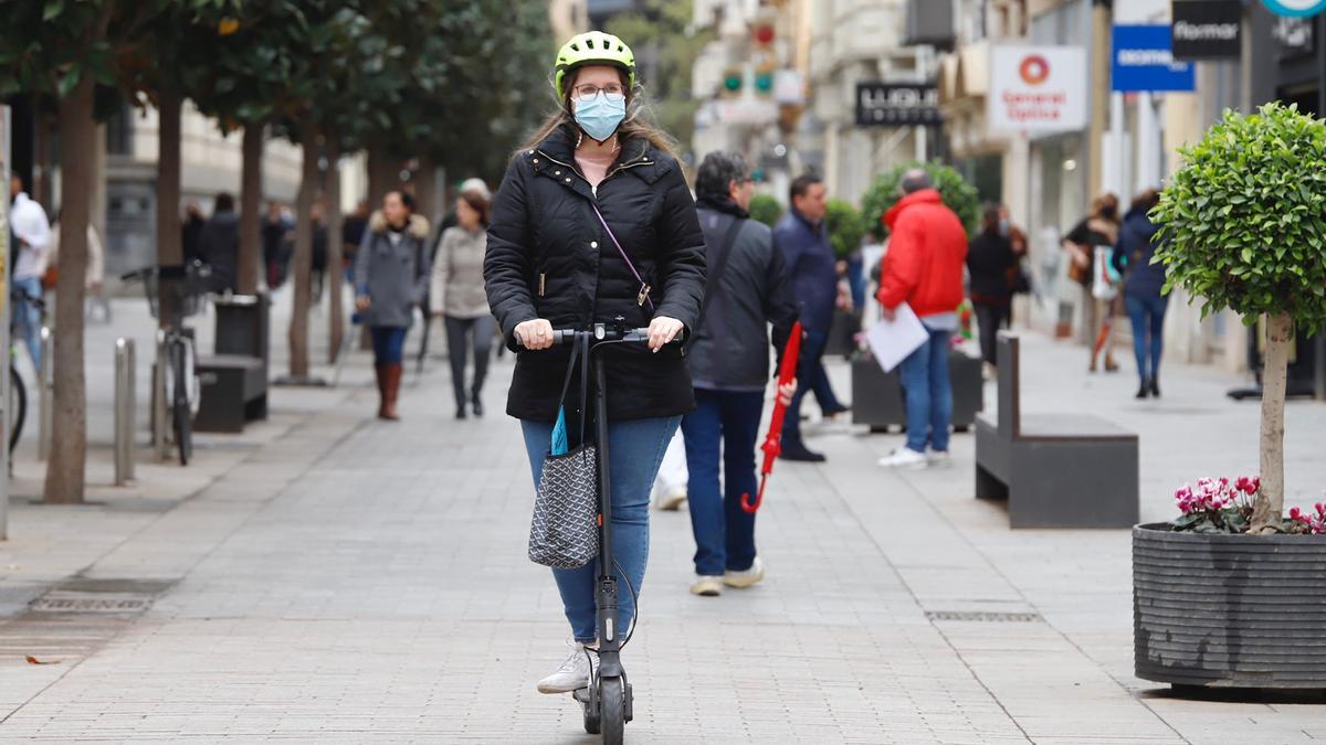
<instances>
[{"instance_id":1,"label":"slim pale trunk of the potted tree above pink flowers","mask_svg":"<svg viewBox=\"0 0 1326 745\"><path fill-rule=\"evenodd\" d=\"M1294 322L1266 318L1266 354L1261 371L1261 494L1252 510L1252 533L1280 530L1285 509L1285 384Z\"/></svg>"}]
</instances>

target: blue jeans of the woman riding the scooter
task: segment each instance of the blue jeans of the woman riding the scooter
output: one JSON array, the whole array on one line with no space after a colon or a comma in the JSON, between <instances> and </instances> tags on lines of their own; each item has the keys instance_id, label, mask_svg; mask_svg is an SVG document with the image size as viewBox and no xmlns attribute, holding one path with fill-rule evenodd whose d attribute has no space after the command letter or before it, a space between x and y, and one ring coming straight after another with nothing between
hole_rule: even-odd
<instances>
[{"instance_id":1,"label":"blue jeans of the woman riding the scooter","mask_svg":"<svg viewBox=\"0 0 1326 745\"><path fill-rule=\"evenodd\" d=\"M650 489L663 463L663 451L676 433L680 416L659 419L634 419L609 423L607 467L613 479L613 553L626 578L635 591L644 583L644 565L650 555ZM553 439L552 422L521 422L525 433L525 451L529 453L529 469L538 488L538 476L544 471L544 459ZM579 569L554 569L557 591L562 597L566 620L577 642L598 639L597 610L594 604L594 582L599 574L598 562L590 562ZM613 575L621 575L614 567ZM618 585L618 623L630 628L635 616L635 602L625 583Z\"/></svg>"}]
</instances>

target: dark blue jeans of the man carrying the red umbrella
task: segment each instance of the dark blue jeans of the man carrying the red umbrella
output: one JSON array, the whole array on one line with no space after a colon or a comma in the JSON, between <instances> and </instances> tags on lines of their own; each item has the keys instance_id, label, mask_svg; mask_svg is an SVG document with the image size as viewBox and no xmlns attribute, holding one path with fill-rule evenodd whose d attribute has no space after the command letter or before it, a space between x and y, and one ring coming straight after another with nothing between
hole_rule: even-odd
<instances>
[{"instance_id":1,"label":"dark blue jeans of the man carrying the red umbrella","mask_svg":"<svg viewBox=\"0 0 1326 745\"><path fill-rule=\"evenodd\" d=\"M721 577L724 570L744 571L754 563L754 516L741 509L741 494L754 498L757 488L754 444L764 392L696 388L695 400L699 410L682 419L695 573Z\"/></svg>"}]
</instances>

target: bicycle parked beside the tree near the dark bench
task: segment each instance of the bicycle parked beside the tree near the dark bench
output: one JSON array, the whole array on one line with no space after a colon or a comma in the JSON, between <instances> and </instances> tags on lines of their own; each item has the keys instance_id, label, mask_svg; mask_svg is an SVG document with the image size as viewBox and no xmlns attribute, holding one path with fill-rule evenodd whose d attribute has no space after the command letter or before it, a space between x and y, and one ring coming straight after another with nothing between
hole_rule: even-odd
<instances>
[{"instance_id":1,"label":"bicycle parked beside the tree near the dark bench","mask_svg":"<svg viewBox=\"0 0 1326 745\"><path fill-rule=\"evenodd\" d=\"M198 349L184 327L184 318L202 310L210 276L206 264L194 261L147 266L121 277L126 282L142 282L152 318L166 321L158 331L158 341L166 347L164 391L158 390L156 395L164 396L180 465L188 465L194 455L194 415L199 403Z\"/></svg>"}]
</instances>

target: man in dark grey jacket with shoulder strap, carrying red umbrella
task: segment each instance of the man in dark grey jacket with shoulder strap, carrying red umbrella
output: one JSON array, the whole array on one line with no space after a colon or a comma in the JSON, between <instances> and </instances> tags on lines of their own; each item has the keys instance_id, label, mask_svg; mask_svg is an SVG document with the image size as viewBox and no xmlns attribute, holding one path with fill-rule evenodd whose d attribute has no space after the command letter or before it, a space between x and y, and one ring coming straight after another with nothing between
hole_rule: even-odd
<instances>
[{"instance_id":1,"label":"man in dark grey jacket with shoulder strap, carrying red umbrella","mask_svg":"<svg viewBox=\"0 0 1326 745\"><path fill-rule=\"evenodd\" d=\"M773 232L749 219L753 182L745 160L713 152L695 182L709 268L700 322L688 355L699 408L682 419L686 436L696 595L764 578L754 550L754 516L741 494L756 490L754 455L769 383L769 323L788 338L798 304ZM781 355L781 345L777 346ZM788 386L786 400L796 390ZM723 457L723 487L719 457Z\"/></svg>"}]
</instances>

